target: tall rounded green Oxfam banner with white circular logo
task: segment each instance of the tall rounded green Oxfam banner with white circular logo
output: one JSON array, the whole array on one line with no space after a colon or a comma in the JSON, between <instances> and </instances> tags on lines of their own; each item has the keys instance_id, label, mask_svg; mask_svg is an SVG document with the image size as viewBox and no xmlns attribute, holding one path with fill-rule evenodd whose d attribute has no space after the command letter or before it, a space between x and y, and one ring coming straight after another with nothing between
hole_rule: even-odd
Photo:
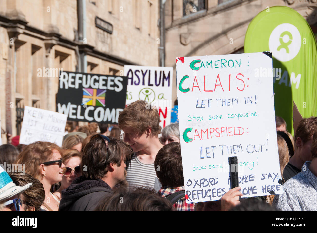
<instances>
[{"instance_id":1,"label":"tall rounded green Oxfam banner with white circular logo","mask_svg":"<svg viewBox=\"0 0 317 233\"><path fill-rule=\"evenodd\" d=\"M273 53L275 115L293 132L293 101L303 117L317 115L316 39L307 21L292 8L274 6L251 21L244 52ZM258 77L267 71L257 71Z\"/></svg>"}]
</instances>

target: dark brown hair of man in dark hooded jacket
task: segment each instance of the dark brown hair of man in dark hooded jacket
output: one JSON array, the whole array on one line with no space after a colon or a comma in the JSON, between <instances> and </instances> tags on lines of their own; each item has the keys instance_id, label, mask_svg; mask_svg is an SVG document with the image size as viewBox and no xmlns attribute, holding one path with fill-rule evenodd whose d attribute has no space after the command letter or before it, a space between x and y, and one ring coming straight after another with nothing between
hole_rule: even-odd
<instances>
[{"instance_id":1,"label":"dark brown hair of man in dark hooded jacket","mask_svg":"<svg viewBox=\"0 0 317 233\"><path fill-rule=\"evenodd\" d=\"M107 174L110 163L120 167L122 160L130 159L132 152L126 143L112 137L109 139L110 142L107 142L108 151L105 141L101 137L92 137L91 141L83 148L81 164L87 167L82 171L84 177L93 180L101 179Z\"/></svg>"}]
</instances>

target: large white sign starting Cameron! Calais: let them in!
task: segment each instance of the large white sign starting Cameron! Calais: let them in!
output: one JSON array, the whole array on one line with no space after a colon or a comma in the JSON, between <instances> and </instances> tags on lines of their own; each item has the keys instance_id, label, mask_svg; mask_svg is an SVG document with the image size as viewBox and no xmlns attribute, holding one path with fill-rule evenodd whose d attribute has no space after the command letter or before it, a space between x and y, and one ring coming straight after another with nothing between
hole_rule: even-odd
<instances>
[{"instance_id":1,"label":"large white sign starting Cameron! Calais: let them in!","mask_svg":"<svg viewBox=\"0 0 317 233\"><path fill-rule=\"evenodd\" d=\"M230 189L228 157L243 197L281 194L272 58L246 53L178 58L179 129L187 202Z\"/></svg>"}]
</instances>

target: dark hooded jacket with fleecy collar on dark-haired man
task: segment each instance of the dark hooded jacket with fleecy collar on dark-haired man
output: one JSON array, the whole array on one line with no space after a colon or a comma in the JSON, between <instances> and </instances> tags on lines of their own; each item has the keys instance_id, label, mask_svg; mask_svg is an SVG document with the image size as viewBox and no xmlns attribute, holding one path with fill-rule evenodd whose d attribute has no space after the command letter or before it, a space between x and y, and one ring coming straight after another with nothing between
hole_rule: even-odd
<instances>
[{"instance_id":1,"label":"dark hooded jacket with fleecy collar on dark-haired man","mask_svg":"<svg viewBox=\"0 0 317 233\"><path fill-rule=\"evenodd\" d=\"M112 189L101 179L90 180L83 176L77 177L72 184L61 192L59 211L90 211Z\"/></svg>"}]
</instances>

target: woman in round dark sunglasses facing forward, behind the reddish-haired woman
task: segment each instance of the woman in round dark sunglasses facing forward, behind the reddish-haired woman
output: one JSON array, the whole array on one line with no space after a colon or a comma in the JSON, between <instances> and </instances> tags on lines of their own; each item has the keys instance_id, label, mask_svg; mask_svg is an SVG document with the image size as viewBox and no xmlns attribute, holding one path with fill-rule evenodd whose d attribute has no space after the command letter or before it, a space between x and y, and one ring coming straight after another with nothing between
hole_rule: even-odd
<instances>
[{"instance_id":1,"label":"woman in round dark sunglasses facing forward, behind the reddish-haired woman","mask_svg":"<svg viewBox=\"0 0 317 233\"><path fill-rule=\"evenodd\" d=\"M63 179L61 187L54 193L59 200L61 200L61 191L73 182L78 176L81 176L81 152L77 150L63 150L63 162L65 168L63 169Z\"/></svg>"}]
</instances>

